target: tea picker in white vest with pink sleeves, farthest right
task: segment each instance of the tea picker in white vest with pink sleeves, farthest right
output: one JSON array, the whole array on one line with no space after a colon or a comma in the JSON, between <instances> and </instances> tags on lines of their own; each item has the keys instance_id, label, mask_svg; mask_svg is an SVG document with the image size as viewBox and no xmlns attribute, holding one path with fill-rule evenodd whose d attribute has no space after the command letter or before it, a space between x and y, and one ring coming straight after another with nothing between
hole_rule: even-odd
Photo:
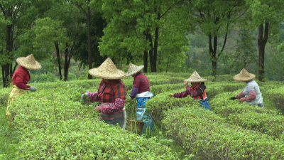
<instances>
[{"instance_id":1,"label":"tea picker in white vest with pink sleeves, farthest right","mask_svg":"<svg viewBox=\"0 0 284 160\"><path fill-rule=\"evenodd\" d=\"M258 107L264 107L263 97L261 95L261 90L255 80L256 75L249 73L243 68L241 73L234 76L234 80L240 82L246 82L246 87L238 95L231 97L230 100L238 99L240 103L247 102L249 105L258 105Z\"/></svg>"}]
</instances>

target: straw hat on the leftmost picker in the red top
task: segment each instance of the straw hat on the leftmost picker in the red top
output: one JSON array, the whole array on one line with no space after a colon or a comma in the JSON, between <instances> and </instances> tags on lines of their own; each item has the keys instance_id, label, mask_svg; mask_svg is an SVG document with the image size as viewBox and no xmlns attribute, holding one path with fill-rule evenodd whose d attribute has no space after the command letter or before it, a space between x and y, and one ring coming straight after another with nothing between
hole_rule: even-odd
<instances>
[{"instance_id":1,"label":"straw hat on the leftmost picker in the red top","mask_svg":"<svg viewBox=\"0 0 284 160\"><path fill-rule=\"evenodd\" d=\"M24 68L27 68L28 70L40 70L41 65L38 63L38 61L35 60L33 57L33 54L28 55L26 57L19 57L17 58L18 65L21 65Z\"/></svg>"}]
</instances>

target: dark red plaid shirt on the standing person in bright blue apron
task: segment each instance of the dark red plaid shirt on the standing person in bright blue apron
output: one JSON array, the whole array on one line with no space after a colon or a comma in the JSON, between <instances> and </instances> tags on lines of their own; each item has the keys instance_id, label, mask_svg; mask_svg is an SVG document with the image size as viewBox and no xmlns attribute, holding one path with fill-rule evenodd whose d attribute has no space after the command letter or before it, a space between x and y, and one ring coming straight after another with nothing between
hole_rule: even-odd
<instances>
[{"instance_id":1,"label":"dark red plaid shirt on the standing person in bright blue apron","mask_svg":"<svg viewBox=\"0 0 284 160\"><path fill-rule=\"evenodd\" d=\"M138 72L134 78L133 87L137 87L139 89L138 94L146 91L150 92L150 82L146 75L141 72Z\"/></svg>"}]
</instances>

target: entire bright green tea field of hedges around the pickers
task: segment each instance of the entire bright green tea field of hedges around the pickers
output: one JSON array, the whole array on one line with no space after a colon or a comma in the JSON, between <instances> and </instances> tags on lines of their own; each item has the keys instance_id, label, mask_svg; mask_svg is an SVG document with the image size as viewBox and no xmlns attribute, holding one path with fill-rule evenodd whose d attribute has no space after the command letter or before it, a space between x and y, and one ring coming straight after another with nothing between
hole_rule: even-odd
<instances>
[{"instance_id":1,"label":"entire bright green tea field of hedges around the pickers","mask_svg":"<svg viewBox=\"0 0 284 160\"><path fill-rule=\"evenodd\" d=\"M80 95L95 92L101 79L33 84L37 92L18 97L12 125L5 118L11 88L0 90L0 159L284 159L284 88L282 82L258 82L265 108L239 104L232 97L244 89L231 75L212 82L207 77L211 111L190 97L168 97L185 90L187 73L147 74L151 92L148 110L156 132L144 136L111 127L82 103ZM123 79L128 94L133 78ZM135 100L126 100L135 119Z\"/></svg>"}]
</instances>

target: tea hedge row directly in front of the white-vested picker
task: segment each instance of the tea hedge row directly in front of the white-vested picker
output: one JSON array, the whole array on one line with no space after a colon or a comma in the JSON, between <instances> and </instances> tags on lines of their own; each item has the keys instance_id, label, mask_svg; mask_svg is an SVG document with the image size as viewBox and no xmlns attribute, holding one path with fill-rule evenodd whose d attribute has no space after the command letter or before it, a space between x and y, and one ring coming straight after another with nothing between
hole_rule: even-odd
<instances>
[{"instance_id":1,"label":"tea hedge row directly in front of the white-vested picker","mask_svg":"<svg viewBox=\"0 0 284 160\"><path fill-rule=\"evenodd\" d=\"M229 100L230 97L241 92L225 92L210 101L212 111L230 124L236 124L246 129L266 133L274 137L281 137L284 132L284 117L276 110L251 106L247 103L239 104L239 100Z\"/></svg>"}]
</instances>

